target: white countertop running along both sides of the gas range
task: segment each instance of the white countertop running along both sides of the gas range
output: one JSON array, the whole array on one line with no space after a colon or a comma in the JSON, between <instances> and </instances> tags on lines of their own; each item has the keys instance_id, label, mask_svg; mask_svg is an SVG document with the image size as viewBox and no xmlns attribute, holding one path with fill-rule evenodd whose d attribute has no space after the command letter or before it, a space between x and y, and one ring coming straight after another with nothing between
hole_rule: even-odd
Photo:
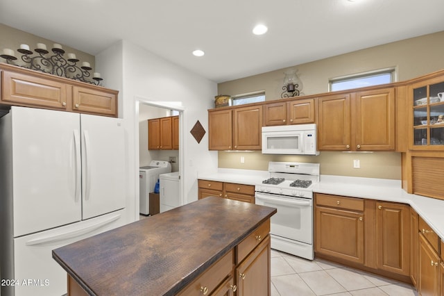
<instances>
[{"instance_id":1,"label":"white countertop running along both sides of the gas range","mask_svg":"<svg viewBox=\"0 0 444 296\"><path fill-rule=\"evenodd\" d=\"M269 175L268 171L219 169L215 173L199 174L198 179L255 185ZM399 180L321 175L313 191L409 204L444 240L444 200L411 195L401 188Z\"/></svg>"}]
</instances>

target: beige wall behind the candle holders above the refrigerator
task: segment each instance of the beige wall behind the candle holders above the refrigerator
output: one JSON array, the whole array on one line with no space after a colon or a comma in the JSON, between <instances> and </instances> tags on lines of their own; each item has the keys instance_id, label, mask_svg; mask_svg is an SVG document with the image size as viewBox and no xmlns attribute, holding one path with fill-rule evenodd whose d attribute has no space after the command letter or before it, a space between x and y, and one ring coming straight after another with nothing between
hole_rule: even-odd
<instances>
[{"instance_id":1,"label":"beige wall behind the candle holders above the refrigerator","mask_svg":"<svg viewBox=\"0 0 444 296\"><path fill-rule=\"evenodd\" d=\"M57 40L48 40L45 38L41 38L39 36L17 30L16 28L12 28L4 24L0 24L0 36L0 52L3 54L3 49L6 48L15 51L15 56L17 57L17 60L13 62L15 63L15 65L24 64L24 62L20 59L21 54L17 51L17 49L20 47L20 44L28 44L31 51L34 51L34 49L37 48L37 43L44 43L46 44L46 48L51 53L51 48L53 47L53 44L60 43ZM96 68L96 60L94 56L92 56L91 54L86 54L83 51L73 49L72 47L67 47L65 44L62 44L62 47L66 52L65 58L67 58L66 56L68 53L76 54L76 58L80 60L80 62L78 63L88 62L92 67L92 71L90 71L91 74L94 72L94 69ZM35 56L35 54L33 56ZM6 63L6 60L0 58L0 63Z\"/></svg>"}]
</instances>

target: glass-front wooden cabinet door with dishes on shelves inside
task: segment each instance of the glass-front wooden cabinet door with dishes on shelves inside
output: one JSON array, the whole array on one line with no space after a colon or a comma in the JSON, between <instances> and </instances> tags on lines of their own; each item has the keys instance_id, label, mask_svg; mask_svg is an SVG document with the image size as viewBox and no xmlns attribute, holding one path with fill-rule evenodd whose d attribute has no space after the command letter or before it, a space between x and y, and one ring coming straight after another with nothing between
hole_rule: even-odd
<instances>
[{"instance_id":1,"label":"glass-front wooden cabinet door with dishes on shelves inside","mask_svg":"<svg viewBox=\"0 0 444 296\"><path fill-rule=\"evenodd\" d=\"M413 149L444 149L444 77L411 85Z\"/></svg>"}]
</instances>

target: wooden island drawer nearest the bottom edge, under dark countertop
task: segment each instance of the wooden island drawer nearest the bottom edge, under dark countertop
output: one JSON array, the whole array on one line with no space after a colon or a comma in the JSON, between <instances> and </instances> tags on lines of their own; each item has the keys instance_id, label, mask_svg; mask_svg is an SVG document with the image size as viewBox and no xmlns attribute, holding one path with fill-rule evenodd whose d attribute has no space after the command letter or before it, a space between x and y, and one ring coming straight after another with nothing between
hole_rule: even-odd
<instances>
[{"instance_id":1,"label":"wooden island drawer nearest the bottom edge, under dark countertop","mask_svg":"<svg viewBox=\"0 0 444 296\"><path fill-rule=\"evenodd\" d=\"M232 273L233 254L234 252L231 249L230 252L211 265L177 295L210 295Z\"/></svg>"}]
</instances>

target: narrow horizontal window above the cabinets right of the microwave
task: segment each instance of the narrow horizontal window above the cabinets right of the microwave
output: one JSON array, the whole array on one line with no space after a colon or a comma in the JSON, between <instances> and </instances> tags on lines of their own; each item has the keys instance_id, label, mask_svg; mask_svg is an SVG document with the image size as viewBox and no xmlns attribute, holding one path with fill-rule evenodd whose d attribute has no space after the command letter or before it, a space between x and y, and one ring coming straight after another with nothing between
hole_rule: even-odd
<instances>
[{"instance_id":1,"label":"narrow horizontal window above the cabinets right of the microwave","mask_svg":"<svg viewBox=\"0 0 444 296\"><path fill-rule=\"evenodd\" d=\"M350 90L352 88L364 88L366 86L395 82L395 68L381 69L350 76L342 76L330 79L330 92L336 90Z\"/></svg>"}]
</instances>

